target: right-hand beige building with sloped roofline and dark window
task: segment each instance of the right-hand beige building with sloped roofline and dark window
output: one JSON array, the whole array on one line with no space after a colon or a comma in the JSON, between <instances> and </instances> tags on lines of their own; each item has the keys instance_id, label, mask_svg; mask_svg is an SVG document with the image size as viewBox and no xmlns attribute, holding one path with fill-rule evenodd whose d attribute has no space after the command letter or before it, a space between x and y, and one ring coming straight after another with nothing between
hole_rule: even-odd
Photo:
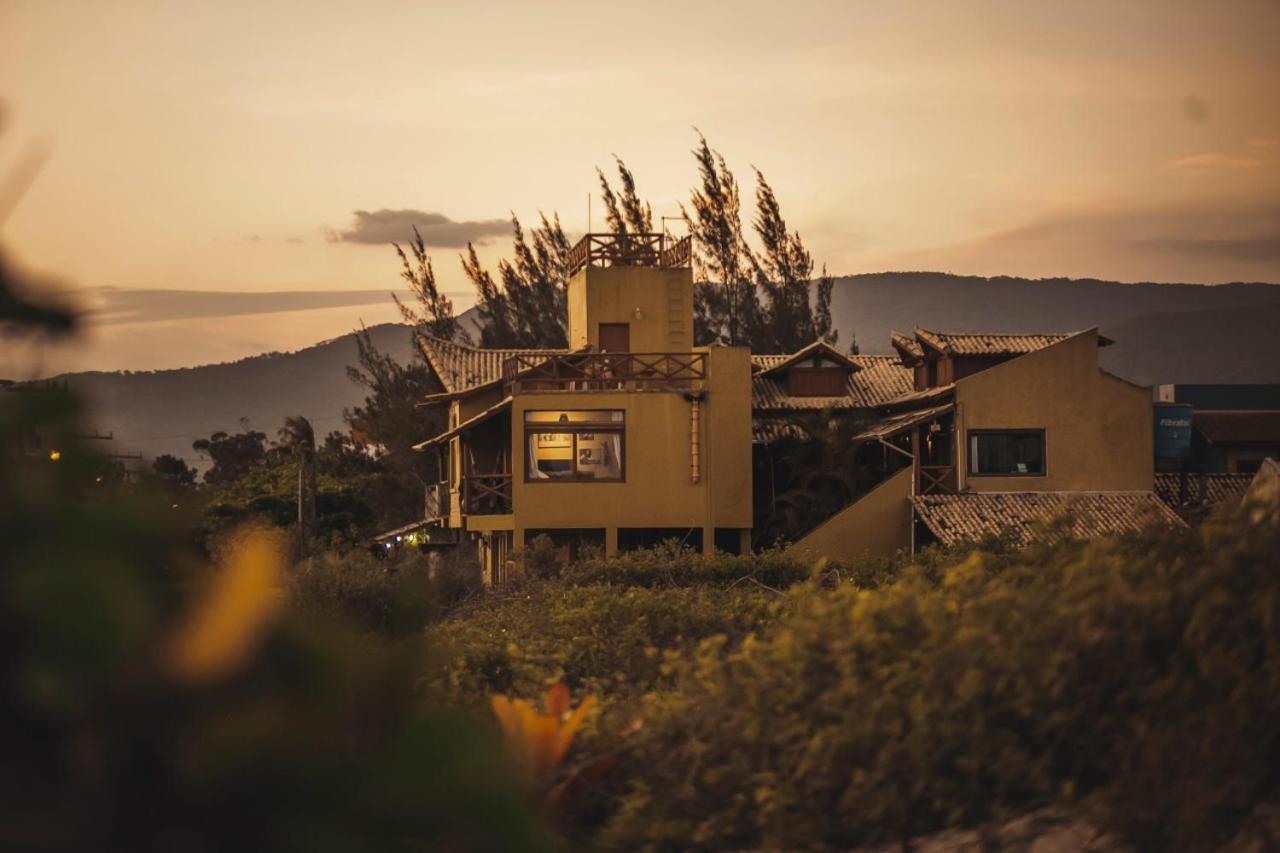
<instances>
[{"instance_id":1,"label":"right-hand beige building with sloped roofline and dark window","mask_svg":"<svg viewBox=\"0 0 1280 853\"><path fill-rule=\"evenodd\" d=\"M1097 329L895 334L913 391L855 441L896 473L797 547L856 558L987 534L1025 542L1064 512L1085 537L1181 524L1153 492L1151 389L1098 366L1107 343Z\"/></svg>"}]
</instances>

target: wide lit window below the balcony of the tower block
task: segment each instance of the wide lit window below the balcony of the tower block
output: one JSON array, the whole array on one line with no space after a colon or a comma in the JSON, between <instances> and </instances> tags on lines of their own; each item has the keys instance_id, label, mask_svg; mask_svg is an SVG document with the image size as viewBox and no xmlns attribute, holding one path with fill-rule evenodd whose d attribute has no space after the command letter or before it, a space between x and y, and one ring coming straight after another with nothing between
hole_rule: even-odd
<instances>
[{"instance_id":1,"label":"wide lit window below the balcony of the tower block","mask_svg":"<svg viewBox=\"0 0 1280 853\"><path fill-rule=\"evenodd\" d=\"M525 479L622 480L625 432L618 410L526 411Z\"/></svg>"}]
</instances>

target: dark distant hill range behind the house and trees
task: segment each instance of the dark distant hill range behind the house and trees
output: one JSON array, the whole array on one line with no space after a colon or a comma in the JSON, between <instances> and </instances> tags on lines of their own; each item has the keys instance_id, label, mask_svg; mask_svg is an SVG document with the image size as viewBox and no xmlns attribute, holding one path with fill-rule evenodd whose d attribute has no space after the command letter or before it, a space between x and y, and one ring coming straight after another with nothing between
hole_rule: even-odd
<instances>
[{"instance_id":1,"label":"dark distant hill range behind the house and trees","mask_svg":"<svg viewBox=\"0 0 1280 853\"><path fill-rule=\"evenodd\" d=\"M465 315L472 321L472 313ZM836 282L832 315L847 346L888 352L890 329L924 325L951 332L1066 332L1093 325L1117 341L1107 369L1144 384L1280 382L1280 286L1121 284L1092 279L977 278L882 273ZM379 348L406 360L408 328L371 328ZM173 453L197 464L191 442L234 430L239 419L274 434L287 415L305 415L319 433L342 428L342 410L364 391L346 377L356 361L352 334L291 353L148 373L74 373L116 452Z\"/></svg>"}]
</instances>

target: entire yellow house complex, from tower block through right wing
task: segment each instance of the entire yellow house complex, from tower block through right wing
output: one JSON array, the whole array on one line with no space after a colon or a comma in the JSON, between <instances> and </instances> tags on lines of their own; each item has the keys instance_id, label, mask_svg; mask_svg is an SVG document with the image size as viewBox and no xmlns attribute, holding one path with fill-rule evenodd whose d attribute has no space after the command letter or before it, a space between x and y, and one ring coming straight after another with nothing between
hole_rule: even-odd
<instances>
[{"instance_id":1,"label":"entire yellow house complex, from tower block through right wing","mask_svg":"<svg viewBox=\"0 0 1280 853\"><path fill-rule=\"evenodd\" d=\"M442 480L425 521L468 539L490 583L545 534L571 558L676 539L742 552L778 510L787 442L855 429L878 483L795 547L837 558L1004 533L1069 508L1096 535L1178 519L1153 494L1151 389L1073 334L895 334L896 355L696 347L687 238L588 234L564 350L426 338L448 429L419 447ZM792 444L794 446L794 444ZM448 537L444 537L448 539Z\"/></svg>"}]
</instances>

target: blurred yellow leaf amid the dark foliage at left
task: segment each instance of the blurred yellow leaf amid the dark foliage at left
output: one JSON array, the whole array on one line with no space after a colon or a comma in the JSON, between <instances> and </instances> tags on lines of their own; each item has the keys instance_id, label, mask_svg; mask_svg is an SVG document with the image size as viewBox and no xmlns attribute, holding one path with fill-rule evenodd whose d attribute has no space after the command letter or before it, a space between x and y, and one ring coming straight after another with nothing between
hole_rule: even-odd
<instances>
[{"instance_id":1,"label":"blurred yellow leaf amid the dark foliage at left","mask_svg":"<svg viewBox=\"0 0 1280 853\"><path fill-rule=\"evenodd\" d=\"M241 666L282 605L278 589L284 542L274 530L239 537L168 649L175 679L204 683Z\"/></svg>"}]
</instances>

